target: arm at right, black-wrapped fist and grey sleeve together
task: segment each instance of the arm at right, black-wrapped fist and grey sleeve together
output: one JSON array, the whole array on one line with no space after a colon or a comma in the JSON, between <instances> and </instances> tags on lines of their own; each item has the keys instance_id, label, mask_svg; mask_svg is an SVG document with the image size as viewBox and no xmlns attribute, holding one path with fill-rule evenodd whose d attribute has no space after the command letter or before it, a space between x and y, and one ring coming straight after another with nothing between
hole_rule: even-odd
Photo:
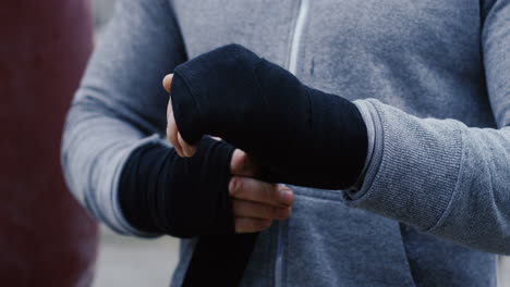
<instances>
[{"instance_id":1,"label":"arm at right, black-wrapped fist and grey sleeve together","mask_svg":"<svg viewBox=\"0 0 510 287\"><path fill-rule=\"evenodd\" d=\"M367 163L361 190L344 194L349 204L510 252L510 212L501 208L510 204L508 129L418 118L377 100L355 108L240 46L178 66L171 97L184 140L218 135L258 160L265 178L345 189Z\"/></svg>"}]
</instances>

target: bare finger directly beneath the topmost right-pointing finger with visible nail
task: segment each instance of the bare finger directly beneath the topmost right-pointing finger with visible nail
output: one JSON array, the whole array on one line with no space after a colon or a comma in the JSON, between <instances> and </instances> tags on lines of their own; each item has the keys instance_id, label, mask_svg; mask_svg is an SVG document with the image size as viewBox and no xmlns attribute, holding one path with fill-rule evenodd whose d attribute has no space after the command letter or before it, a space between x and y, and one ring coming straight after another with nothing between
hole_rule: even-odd
<instances>
[{"instance_id":1,"label":"bare finger directly beneath the topmost right-pointing finger with visible nail","mask_svg":"<svg viewBox=\"0 0 510 287\"><path fill-rule=\"evenodd\" d=\"M234 199L232 201L232 211L236 217L252 217L259 220L284 220L289 217L291 208L275 208L271 205Z\"/></svg>"}]
</instances>

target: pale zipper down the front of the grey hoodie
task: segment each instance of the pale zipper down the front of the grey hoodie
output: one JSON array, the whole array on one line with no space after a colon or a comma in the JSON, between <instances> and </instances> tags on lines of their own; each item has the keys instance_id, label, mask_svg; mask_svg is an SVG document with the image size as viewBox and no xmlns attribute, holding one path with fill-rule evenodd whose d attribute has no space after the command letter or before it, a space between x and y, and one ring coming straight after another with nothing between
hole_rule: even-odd
<instances>
[{"instance_id":1,"label":"pale zipper down the front of the grey hoodie","mask_svg":"<svg viewBox=\"0 0 510 287\"><path fill-rule=\"evenodd\" d=\"M304 24L306 22L306 16L308 14L308 1L301 0L300 11L298 13L298 20L295 21L294 33L292 35L292 42L289 57L289 72L295 75L298 72L298 57L300 53L301 37L303 35ZM281 287L283 285L283 254L284 254L284 244L283 240L283 227L286 223L276 222L277 224L277 235L276 235L276 261L275 261L275 287Z\"/></svg>"}]
</instances>

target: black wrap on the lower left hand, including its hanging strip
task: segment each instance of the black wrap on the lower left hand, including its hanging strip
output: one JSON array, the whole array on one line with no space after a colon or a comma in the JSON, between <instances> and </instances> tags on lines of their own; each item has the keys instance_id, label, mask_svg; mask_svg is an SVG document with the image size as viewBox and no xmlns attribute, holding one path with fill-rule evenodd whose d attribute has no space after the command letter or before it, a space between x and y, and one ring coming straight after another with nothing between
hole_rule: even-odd
<instances>
[{"instance_id":1,"label":"black wrap on the lower left hand, including its hanging strip","mask_svg":"<svg viewBox=\"0 0 510 287\"><path fill-rule=\"evenodd\" d=\"M234 148L204 137L192 158L158 144L132 152L119 185L126 221L149 234L198 236L182 286L239 286L257 234L234 234L228 194Z\"/></svg>"}]
</instances>

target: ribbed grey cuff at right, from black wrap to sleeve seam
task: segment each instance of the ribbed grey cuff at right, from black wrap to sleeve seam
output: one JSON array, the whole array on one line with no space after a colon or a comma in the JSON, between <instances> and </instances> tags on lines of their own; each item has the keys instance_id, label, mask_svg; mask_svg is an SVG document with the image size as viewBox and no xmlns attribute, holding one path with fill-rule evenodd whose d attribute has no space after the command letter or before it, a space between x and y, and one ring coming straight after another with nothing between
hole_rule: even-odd
<instances>
[{"instance_id":1,"label":"ribbed grey cuff at right, from black wrap to sleeve seam","mask_svg":"<svg viewBox=\"0 0 510 287\"><path fill-rule=\"evenodd\" d=\"M345 203L422 230L435 226L456 190L462 136L456 121L417 118L377 100L359 100L372 125L372 157L357 191Z\"/></svg>"}]
</instances>

